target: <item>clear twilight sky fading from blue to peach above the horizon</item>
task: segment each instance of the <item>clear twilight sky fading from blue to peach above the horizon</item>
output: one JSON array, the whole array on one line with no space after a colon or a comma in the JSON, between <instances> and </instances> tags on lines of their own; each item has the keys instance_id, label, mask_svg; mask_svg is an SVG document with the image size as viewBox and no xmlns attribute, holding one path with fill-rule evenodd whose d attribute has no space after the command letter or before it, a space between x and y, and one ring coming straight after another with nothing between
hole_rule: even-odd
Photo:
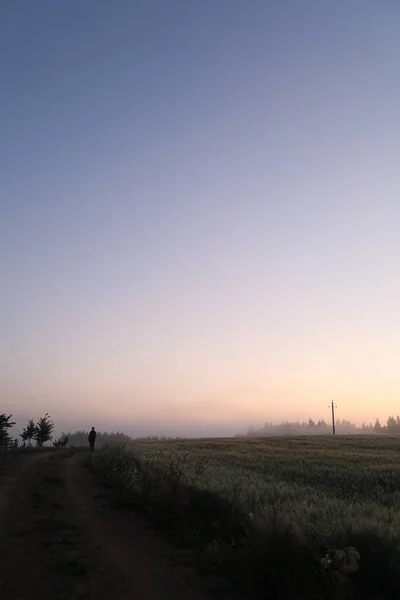
<instances>
[{"instance_id":1,"label":"clear twilight sky fading from blue to peach above the horizon","mask_svg":"<svg viewBox=\"0 0 400 600\"><path fill-rule=\"evenodd\" d=\"M0 412L189 433L400 412L399 19L1 2Z\"/></svg>"}]
</instances>

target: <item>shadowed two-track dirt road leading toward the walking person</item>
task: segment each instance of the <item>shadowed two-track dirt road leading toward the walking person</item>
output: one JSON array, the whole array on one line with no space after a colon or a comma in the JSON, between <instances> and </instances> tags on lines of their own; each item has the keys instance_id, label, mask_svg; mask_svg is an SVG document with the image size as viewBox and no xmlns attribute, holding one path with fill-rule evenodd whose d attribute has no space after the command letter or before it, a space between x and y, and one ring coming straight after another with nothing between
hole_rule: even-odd
<instances>
[{"instance_id":1,"label":"shadowed two-track dirt road leading toward the walking person","mask_svg":"<svg viewBox=\"0 0 400 600\"><path fill-rule=\"evenodd\" d=\"M1 600L206 600L204 581L133 511L110 509L65 451L26 457L0 480Z\"/></svg>"}]
</instances>

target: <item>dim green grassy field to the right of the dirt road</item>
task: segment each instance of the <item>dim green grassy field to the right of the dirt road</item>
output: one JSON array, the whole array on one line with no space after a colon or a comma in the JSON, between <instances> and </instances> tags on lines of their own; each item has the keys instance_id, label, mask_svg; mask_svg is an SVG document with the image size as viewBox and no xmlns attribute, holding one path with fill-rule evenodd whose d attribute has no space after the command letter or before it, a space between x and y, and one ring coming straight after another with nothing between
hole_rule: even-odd
<instances>
[{"instance_id":1,"label":"dim green grassy field to the right of the dirt road","mask_svg":"<svg viewBox=\"0 0 400 600\"><path fill-rule=\"evenodd\" d=\"M92 468L242 597L400 598L400 439L132 442Z\"/></svg>"}]
</instances>

